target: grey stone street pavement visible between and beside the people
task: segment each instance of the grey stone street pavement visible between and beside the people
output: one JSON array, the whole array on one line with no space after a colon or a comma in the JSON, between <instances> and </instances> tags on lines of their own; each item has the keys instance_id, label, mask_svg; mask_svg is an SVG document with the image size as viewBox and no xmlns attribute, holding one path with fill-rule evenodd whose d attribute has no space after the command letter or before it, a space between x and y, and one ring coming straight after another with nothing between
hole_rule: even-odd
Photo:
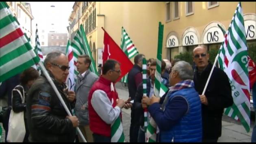
<instances>
[{"instance_id":1,"label":"grey stone street pavement visible between and beside the people","mask_svg":"<svg viewBox=\"0 0 256 144\"><path fill-rule=\"evenodd\" d=\"M127 100L129 97L128 88L118 82L116 90L119 98ZM122 125L124 127L125 141L129 142L129 129L130 129L130 109L122 109ZM251 142L252 128L254 121L251 122L251 129L247 133L240 122L223 115L222 118L222 135L218 142Z\"/></svg>"}]
</instances>

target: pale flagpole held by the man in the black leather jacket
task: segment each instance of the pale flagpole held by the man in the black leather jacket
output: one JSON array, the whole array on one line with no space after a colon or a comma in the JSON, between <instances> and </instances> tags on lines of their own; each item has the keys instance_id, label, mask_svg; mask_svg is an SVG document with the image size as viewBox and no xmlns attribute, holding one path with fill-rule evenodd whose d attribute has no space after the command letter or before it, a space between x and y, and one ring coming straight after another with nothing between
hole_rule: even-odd
<instances>
[{"instance_id":1,"label":"pale flagpole held by the man in the black leather jacket","mask_svg":"<svg viewBox=\"0 0 256 144\"><path fill-rule=\"evenodd\" d=\"M59 91L57 90L56 86L54 85L54 83L52 82L52 79L49 75L49 73L46 71L46 68L43 66L43 63L41 61L39 61L39 66L41 67L41 70L43 71L43 74L46 76L47 80L50 82L53 90L55 91L57 97L59 98L59 100L61 101L61 104L63 105L64 109L66 110L68 116L72 116L72 114L69 112L67 105L65 104L64 100L61 97L61 94L59 93ZM78 134L81 136L83 142L87 142L85 140L85 137L82 135L82 132L80 131L80 129L78 127L76 127L76 130L78 131Z\"/></svg>"}]
</instances>

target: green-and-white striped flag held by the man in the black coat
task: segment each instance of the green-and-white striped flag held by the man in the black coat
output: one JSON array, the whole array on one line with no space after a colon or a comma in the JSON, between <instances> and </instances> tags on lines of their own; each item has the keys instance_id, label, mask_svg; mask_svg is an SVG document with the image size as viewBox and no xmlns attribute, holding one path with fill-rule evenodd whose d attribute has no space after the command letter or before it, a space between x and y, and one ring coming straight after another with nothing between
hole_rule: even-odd
<instances>
[{"instance_id":1,"label":"green-and-white striped flag held by the man in the black coat","mask_svg":"<svg viewBox=\"0 0 256 144\"><path fill-rule=\"evenodd\" d=\"M218 62L230 80L234 104L225 114L239 119L245 130L250 130L250 94L248 78L247 43L241 2L239 2L231 24L224 35L219 50Z\"/></svg>"}]
</instances>

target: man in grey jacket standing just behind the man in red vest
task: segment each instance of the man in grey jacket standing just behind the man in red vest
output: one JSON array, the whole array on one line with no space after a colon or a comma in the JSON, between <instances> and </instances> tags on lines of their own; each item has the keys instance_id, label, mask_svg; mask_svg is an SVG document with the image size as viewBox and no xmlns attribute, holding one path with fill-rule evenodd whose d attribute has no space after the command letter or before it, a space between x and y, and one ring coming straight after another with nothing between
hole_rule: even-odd
<instances>
[{"instance_id":1,"label":"man in grey jacket standing just behind the man in red vest","mask_svg":"<svg viewBox=\"0 0 256 144\"><path fill-rule=\"evenodd\" d=\"M78 56L76 63L77 71L79 72L76 80L76 105L75 113L79 120L79 129L82 131L87 142L93 142L92 132L89 127L89 114L88 114L88 95L91 86L96 80L98 75L89 70L91 65L91 58L88 55ZM82 138L78 135L79 142Z\"/></svg>"}]
</instances>

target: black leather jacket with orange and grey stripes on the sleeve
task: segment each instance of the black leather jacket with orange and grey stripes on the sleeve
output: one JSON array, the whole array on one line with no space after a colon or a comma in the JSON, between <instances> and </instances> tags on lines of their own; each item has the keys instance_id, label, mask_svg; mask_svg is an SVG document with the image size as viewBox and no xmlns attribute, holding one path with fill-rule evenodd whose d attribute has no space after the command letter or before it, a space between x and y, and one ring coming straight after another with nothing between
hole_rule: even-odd
<instances>
[{"instance_id":1,"label":"black leather jacket with orange and grey stripes on the sleeve","mask_svg":"<svg viewBox=\"0 0 256 144\"><path fill-rule=\"evenodd\" d=\"M52 80L72 113L74 105L69 103L63 92L65 84ZM31 86L26 100L30 142L74 142L76 129L66 118L67 112L44 75Z\"/></svg>"}]
</instances>

